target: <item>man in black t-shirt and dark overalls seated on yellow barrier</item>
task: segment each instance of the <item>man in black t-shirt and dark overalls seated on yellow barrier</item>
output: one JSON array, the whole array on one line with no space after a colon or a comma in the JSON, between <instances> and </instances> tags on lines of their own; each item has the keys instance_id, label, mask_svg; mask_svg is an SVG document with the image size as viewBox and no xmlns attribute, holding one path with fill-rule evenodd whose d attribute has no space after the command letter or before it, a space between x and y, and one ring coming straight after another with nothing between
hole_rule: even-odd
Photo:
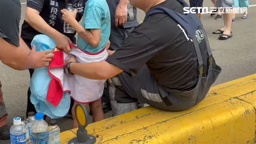
<instances>
[{"instance_id":1,"label":"man in black t-shirt and dark overalls seated on yellow barrier","mask_svg":"<svg viewBox=\"0 0 256 144\"><path fill-rule=\"evenodd\" d=\"M184 14L183 0L130 0L146 13L106 61L66 63L70 73L110 79L113 115L138 108L138 102L165 111L183 111L201 102L221 72L201 21Z\"/></svg>"}]
</instances>

